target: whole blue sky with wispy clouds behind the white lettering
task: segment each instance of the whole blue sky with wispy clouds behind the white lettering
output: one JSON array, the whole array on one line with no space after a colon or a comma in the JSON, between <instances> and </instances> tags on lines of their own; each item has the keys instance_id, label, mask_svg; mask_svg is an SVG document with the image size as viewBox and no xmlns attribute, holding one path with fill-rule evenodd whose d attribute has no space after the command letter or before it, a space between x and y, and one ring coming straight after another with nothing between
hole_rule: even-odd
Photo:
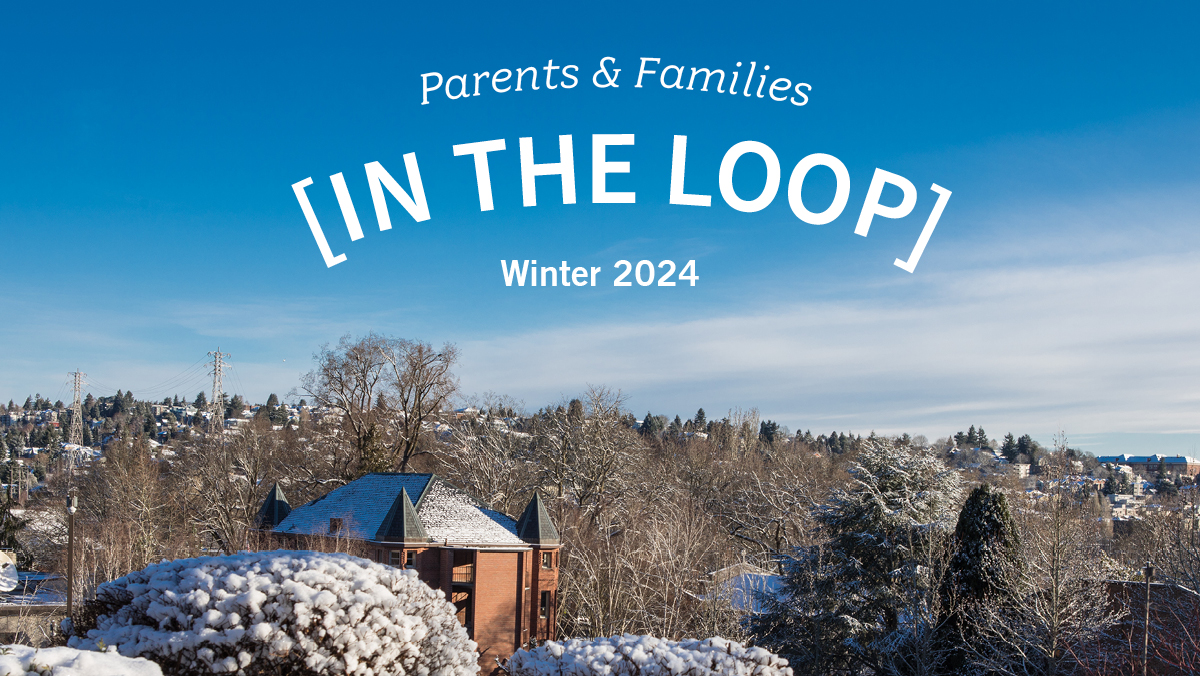
<instances>
[{"instance_id":1,"label":"whole blue sky with wispy clouds behind the white lettering","mask_svg":"<svg viewBox=\"0 0 1200 676\"><path fill-rule=\"evenodd\" d=\"M796 429L982 424L1104 451L1200 445L1200 47L1190 4L696 5L524 8L277 5L12 12L0 29L0 394L66 399L204 388L196 363L233 354L229 389L286 393L312 352L366 330L452 341L467 394L530 407L588 383L641 414L756 407ZM622 68L598 89L600 59ZM667 90L654 67L742 61L811 84L804 107ZM421 73L577 65L574 89L421 106ZM746 67L739 68L745 77ZM544 73L544 71L539 71ZM757 71L761 73L762 71ZM756 78L757 79L757 76ZM486 80L484 80L486 83ZM631 164L592 204L592 134L631 133ZM538 162L571 134L578 201L538 179L521 202L517 139ZM667 203L674 134L688 192ZM460 143L503 138L481 213ZM782 185L762 211L718 190L725 151L770 146ZM391 202L379 232L362 166L406 187L415 152L431 219ZM791 168L847 167L842 215L810 226ZM876 168L917 187L906 219L853 234ZM350 241L329 181L342 172L365 232ZM734 189L761 190L738 163ZM326 269L290 189L335 253ZM935 195L953 191L916 273ZM805 183L814 209L833 180ZM898 189L883 201L894 204ZM824 197L822 197L822 195ZM390 198L389 198L390 199ZM602 267L596 288L505 288L500 258ZM617 259L695 259L696 287L614 288ZM6 393L6 394L4 394ZM61 393L61 394L59 394ZM1170 432L1154 436L1154 432Z\"/></svg>"}]
</instances>

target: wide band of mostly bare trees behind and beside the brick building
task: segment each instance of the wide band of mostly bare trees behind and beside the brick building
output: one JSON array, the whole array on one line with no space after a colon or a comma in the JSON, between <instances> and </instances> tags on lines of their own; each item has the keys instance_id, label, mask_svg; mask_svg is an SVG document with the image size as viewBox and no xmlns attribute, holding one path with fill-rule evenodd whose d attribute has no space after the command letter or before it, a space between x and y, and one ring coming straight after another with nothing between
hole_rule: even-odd
<instances>
[{"instance_id":1,"label":"wide band of mostly bare trees behind and beside the brick building","mask_svg":"<svg viewBox=\"0 0 1200 676\"><path fill-rule=\"evenodd\" d=\"M541 491L564 543L559 635L749 639L798 674L1097 672L1117 618L1096 580L1134 579L1148 555L1158 579L1200 582L1181 502L1195 491L1114 538L1096 492L1067 480L1064 442L1039 456L1042 491L996 474L968 499L952 437L790 433L754 409L638 418L606 388L528 411L463 397L456 360L452 345L347 336L293 393L319 414L158 448L119 427L73 478L80 593L163 557L259 546L274 483L300 504L382 471L437 472L508 514ZM48 568L68 483L49 479L22 536ZM772 580L787 593L755 593ZM1048 610L1046 591L1063 604Z\"/></svg>"}]
</instances>

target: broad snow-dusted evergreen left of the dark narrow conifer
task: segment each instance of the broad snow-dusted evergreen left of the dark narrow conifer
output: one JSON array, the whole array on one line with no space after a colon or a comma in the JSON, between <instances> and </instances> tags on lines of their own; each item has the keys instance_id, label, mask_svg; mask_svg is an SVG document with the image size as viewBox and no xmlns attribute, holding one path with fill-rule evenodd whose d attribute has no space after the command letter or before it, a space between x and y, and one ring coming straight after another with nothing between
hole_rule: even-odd
<instances>
[{"instance_id":1,"label":"broad snow-dusted evergreen left of the dark narrow conifer","mask_svg":"<svg viewBox=\"0 0 1200 676\"><path fill-rule=\"evenodd\" d=\"M948 537L961 478L928 449L869 438L815 516L829 536L785 561L782 588L749 618L756 641L797 674L863 674L919 660L937 585L929 556ZM932 618L936 621L936 618ZM920 624L920 626L918 626Z\"/></svg>"}]
</instances>

